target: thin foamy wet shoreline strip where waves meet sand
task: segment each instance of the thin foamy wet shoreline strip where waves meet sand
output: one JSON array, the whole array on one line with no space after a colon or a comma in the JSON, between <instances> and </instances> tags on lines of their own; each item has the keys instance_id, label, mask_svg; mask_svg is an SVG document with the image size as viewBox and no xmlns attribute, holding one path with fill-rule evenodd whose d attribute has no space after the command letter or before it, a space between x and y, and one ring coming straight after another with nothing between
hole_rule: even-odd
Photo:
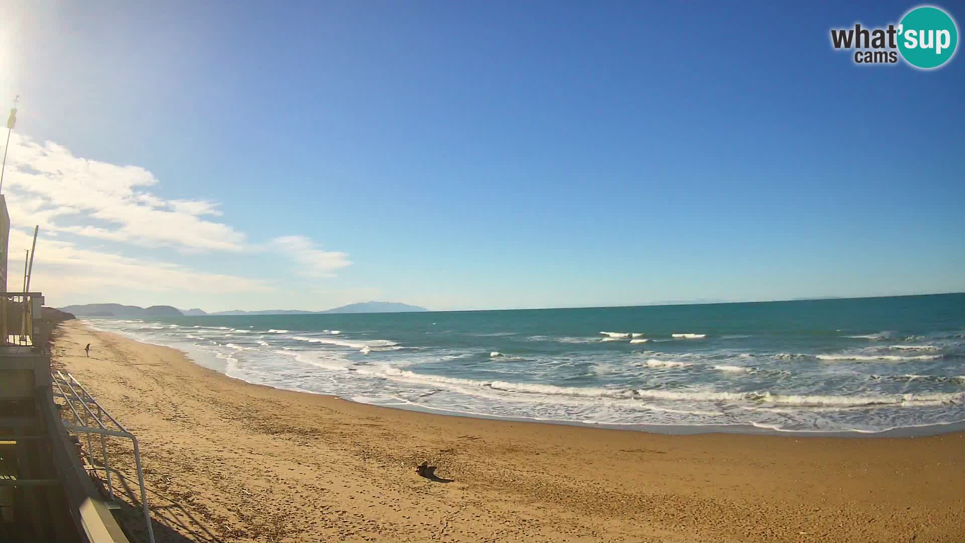
<instances>
[{"instance_id":1,"label":"thin foamy wet shoreline strip where waves meet sand","mask_svg":"<svg viewBox=\"0 0 965 543\"><path fill-rule=\"evenodd\" d=\"M240 377L233 377L228 375L228 363L225 358L221 357L209 357L211 360L217 360L214 364L208 365L202 361L198 360L198 356L191 352L180 349L177 346L164 345L161 343L154 343L144 338L134 338L123 333L116 331L96 329L96 327L84 320L78 319L78 322L83 324L83 326L90 329L96 330L98 333L114 334L125 339L136 341L138 343L155 345L157 347L164 347L167 349L173 349L181 354L183 357L187 358L192 363L195 363L201 367L212 370L218 374L225 377L246 383L253 386L267 386L276 390L286 390L290 392L295 392L299 394L311 394L315 396L326 396L337 398L346 402L351 402L355 404L368 405L374 407L388 408L394 410L401 410L413 413L424 413L424 414L435 414L441 416L460 416L474 419L483 420L505 420L511 422L527 422L535 424L552 424L552 425L565 425L565 426L577 426L585 428L598 428L607 430L620 430L628 432L644 432L648 434L662 434L669 436L689 436L689 435L703 435L703 434L737 434L737 435L755 435L755 436L785 436L785 437L798 437L798 438L850 438L850 439L866 439L866 438L915 438L915 437L928 437L928 436L940 436L943 434L951 434L956 432L965 432L965 419L957 420L947 423L938 424L924 424L918 426L901 426L895 428L888 428L885 430L877 431L864 431L864 430L784 430L781 428L774 428L770 426L760 426L753 423L734 423L734 424L653 424L653 423L618 423L618 422L584 422L579 420L561 420L561 419L548 419L548 418L538 418L538 417L527 417L527 416L500 416L494 414L483 414L483 413L470 413L462 412L457 410L447 410L442 408L430 408L425 406L419 406L415 404L379 404L370 402L360 402L352 398L340 396L338 394L326 393L326 392L316 392L312 390L306 390L297 387L283 387L283 386L270 386L261 383L255 383L247 381ZM219 366L220 369L211 367L212 365Z\"/></svg>"}]
</instances>

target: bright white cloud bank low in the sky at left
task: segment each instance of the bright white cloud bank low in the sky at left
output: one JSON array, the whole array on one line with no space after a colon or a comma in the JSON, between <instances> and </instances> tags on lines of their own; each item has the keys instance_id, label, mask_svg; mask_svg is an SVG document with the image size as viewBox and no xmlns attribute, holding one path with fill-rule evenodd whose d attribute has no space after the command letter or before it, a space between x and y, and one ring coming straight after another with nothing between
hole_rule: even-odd
<instances>
[{"instance_id":1,"label":"bright white cloud bank low in the sky at left","mask_svg":"<svg viewBox=\"0 0 965 543\"><path fill-rule=\"evenodd\" d=\"M237 255L235 261L277 252L295 264L292 272L308 277L330 277L351 264L345 252L322 250L304 236L250 243L244 232L212 218L222 216L217 202L166 199L149 191L157 184L144 168L74 157L56 143L41 145L14 133L3 186L12 223L9 286L21 287L14 262L22 265L22 248L30 246L35 224L41 227L41 238L32 288L61 300L123 302L115 299L117 293L167 293L145 297L163 303L190 300L194 297L183 293L196 293L207 300L224 295L226 303L241 307L250 306L244 300L271 300L280 294L275 277L201 272L168 260L131 258L124 256L124 245L181 253L231 252ZM59 234L69 234L69 240L54 239ZM96 246L98 241L122 248L108 252Z\"/></svg>"}]
</instances>

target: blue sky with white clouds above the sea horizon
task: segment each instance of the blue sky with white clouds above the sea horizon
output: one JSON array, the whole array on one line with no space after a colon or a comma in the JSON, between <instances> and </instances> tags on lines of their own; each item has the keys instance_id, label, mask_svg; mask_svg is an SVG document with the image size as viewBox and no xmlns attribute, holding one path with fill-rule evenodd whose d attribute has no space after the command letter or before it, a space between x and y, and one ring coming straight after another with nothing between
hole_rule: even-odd
<instances>
[{"instance_id":1,"label":"blue sky with white clouds above the sea horizon","mask_svg":"<svg viewBox=\"0 0 965 543\"><path fill-rule=\"evenodd\" d=\"M37 224L54 306L965 291L965 59L829 39L915 6L14 0L8 288Z\"/></svg>"}]
</instances>

